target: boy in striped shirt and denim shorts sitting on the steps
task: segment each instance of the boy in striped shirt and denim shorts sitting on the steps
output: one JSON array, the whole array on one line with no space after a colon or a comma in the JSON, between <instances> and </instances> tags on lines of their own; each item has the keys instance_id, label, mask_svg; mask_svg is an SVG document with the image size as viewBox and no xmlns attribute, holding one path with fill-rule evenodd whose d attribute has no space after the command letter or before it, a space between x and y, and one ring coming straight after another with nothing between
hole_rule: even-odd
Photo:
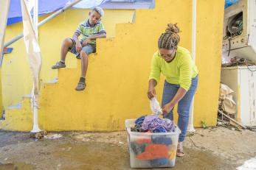
<instances>
[{"instance_id":1,"label":"boy in striped shirt and denim shorts sitting on the steps","mask_svg":"<svg viewBox=\"0 0 256 170\"><path fill-rule=\"evenodd\" d=\"M73 37L63 40L60 51L60 61L52 65L52 69L65 68L67 52L72 52L76 54L77 59L81 59L81 77L75 88L76 91L83 91L86 88L88 56L96 52L96 39L106 37L104 26L100 22L100 18L103 17L103 15L104 11L101 7L94 7L89 13L89 19L79 24ZM81 34L82 38L79 41L78 37Z\"/></svg>"}]
</instances>

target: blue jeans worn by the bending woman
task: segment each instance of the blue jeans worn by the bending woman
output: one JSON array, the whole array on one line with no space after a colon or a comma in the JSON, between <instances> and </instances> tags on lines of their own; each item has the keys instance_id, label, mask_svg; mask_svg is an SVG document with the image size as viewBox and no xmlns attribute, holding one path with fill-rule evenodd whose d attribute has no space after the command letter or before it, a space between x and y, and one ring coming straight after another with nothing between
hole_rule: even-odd
<instances>
[{"instance_id":1,"label":"blue jeans worn by the bending woman","mask_svg":"<svg viewBox=\"0 0 256 170\"><path fill-rule=\"evenodd\" d=\"M191 80L190 89L178 103L178 127L181 130L181 134L179 135L179 142L184 141L186 137L187 125L190 116L190 105L196 92L197 84L198 76ZM165 80L164 91L162 95L162 107L173 99L178 90L179 85L170 84ZM173 110L170 110L169 113L164 114L164 118L169 118L170 120L173 120Z\"/></svg>"}]
</instances>

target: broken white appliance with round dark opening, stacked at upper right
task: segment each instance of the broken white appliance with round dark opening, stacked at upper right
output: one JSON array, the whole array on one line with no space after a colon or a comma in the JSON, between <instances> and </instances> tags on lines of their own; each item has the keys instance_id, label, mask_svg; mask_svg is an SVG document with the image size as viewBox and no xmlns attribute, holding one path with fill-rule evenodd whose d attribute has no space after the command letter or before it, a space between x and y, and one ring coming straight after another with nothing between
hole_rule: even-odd
<instances>
[{"instance_id":1,"label":"broken white appliance with round dark opening, stacked at upper right","mask_svg":"<svg viewBox=\"0 0 256 170\"><path fill-rule=\"evenodd\" d=\"M240 0L225 9L223 37L223 63L232 57L256 63L256 0Z\"/></svg>"}]
</instances>

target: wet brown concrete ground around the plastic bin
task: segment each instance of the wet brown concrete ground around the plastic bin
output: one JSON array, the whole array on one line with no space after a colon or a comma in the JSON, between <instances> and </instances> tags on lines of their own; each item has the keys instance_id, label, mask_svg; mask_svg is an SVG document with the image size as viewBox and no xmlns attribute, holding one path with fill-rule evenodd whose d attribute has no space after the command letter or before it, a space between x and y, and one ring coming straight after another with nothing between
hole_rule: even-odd
<instances>
[{"instance_id":1,"label":"wet brown concrete ground around the plastic bin","mask_svg":"<svg viewBox=\"0 0 256 170\"><path fill-rule=\"evenodd\" d=\"M126 132L58 132L35 141L25 132L0 131L0 170L131 169ZM256 155L256 133L224 127L187 136L176 169L235 169ZM165 168L162 168L165 169Z\"/></svg>"}]
</instances>

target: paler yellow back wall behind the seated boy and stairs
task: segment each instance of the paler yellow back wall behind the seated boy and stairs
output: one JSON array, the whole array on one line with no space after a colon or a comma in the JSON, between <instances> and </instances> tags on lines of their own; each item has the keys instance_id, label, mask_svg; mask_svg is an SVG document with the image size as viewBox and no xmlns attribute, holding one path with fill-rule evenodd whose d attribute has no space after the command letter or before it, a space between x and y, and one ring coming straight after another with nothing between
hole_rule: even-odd
<instances>
[{"instance_id":1,"label":"paler yellow back wall behind the seated boy and stairs","mask_svg":"<svg viewBox=\"0 0 256 170\"><path fill-rule=\"evenodd\" d=\"M58 78L58 72L50 68L60 59L62 40L72 37L77 25L88 18L89 11L67 10L40 27L39 43L43 62L41 81L47 82ZM105 10L103 23L107 30L108 38L114 37L115 24L131 22L133 15L134 10ZM46 16L40 19L42 20ZM4 42L7 43L7 41L15 38L22 31L23 26L21 23L7 26ZM21 38L10 47L13 47L13 52L4 55L1 71L4 107L20 103L22 96L31 93L32 89L32 79L25 54L24 39ZM72 54L69 54L66 63L69 68L76 67L76 60L74 60Z\"/></svg>"}]
</instances>

